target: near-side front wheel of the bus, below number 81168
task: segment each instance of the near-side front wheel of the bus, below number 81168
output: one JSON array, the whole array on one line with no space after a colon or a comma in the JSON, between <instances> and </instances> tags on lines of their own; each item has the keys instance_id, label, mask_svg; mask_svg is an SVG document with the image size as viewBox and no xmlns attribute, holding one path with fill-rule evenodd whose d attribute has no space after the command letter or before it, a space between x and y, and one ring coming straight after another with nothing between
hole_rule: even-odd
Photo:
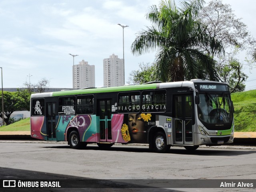
<instances>
[{"instance_id":1,"label":"near-side front wheel of the bus, below number 81168","mask_svg":"<svg viewBox=\"0 0 256 192\"><path fill-rule=\"evenodd\" d=\"M166 135L163 132L157 132L153 140L155 152L166 152L170 149L170 145L167 145Z\"/></svg>"}]
</instances>

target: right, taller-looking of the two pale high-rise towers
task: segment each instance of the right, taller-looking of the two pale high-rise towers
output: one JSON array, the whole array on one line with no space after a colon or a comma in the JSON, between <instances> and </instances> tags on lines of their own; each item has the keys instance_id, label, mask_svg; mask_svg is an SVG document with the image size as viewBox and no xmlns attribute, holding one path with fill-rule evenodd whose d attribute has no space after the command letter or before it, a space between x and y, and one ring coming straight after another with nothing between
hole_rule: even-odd
<instances>
[{"instance_id":1,"label":"right, taller-looking of the two pale high-rise towers","mask_svg":"<svg viewBox=\"0 0 256 192\"><path fill-rule=\"evenodd\" d=\"M124 59L112 54L103 59L104 87L117 87L124 85Z\"/></svg>"}]
</instances>

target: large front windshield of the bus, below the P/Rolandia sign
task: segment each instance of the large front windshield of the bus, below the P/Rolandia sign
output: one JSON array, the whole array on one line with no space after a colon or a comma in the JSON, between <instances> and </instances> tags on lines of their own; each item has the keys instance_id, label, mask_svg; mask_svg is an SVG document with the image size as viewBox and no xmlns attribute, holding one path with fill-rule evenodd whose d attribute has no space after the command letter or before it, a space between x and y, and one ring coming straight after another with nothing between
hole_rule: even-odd
<instances>
[{"instance_id":1,"label":"large front windshield of the bus, below the P/Rolandia sign","mask_svg":"<svg viewBox=\"0 0 256 192\"><path fill-rule=\"evenodd\" d=\"M229 94L204 93L199 94L198 117L203 123L232 123L233 111Z\"/></svg>"}]
</instances>

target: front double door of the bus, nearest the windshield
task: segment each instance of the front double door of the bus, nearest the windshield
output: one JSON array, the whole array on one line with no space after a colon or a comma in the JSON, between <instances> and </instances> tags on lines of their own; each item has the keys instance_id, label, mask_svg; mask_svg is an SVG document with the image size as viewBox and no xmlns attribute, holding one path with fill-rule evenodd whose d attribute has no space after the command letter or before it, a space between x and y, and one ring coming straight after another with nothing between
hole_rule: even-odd
<instances>
[{"instance_id":1,"label":"front double door of the bus, nearest the windshield","mask_svg":"<svg viewBox=\"0 0 256 192\"><path fill-rule=\"evenodd\" d=\"M193 144L192 94L173 95L174 144Z\"/></svg>"}]
</instances>

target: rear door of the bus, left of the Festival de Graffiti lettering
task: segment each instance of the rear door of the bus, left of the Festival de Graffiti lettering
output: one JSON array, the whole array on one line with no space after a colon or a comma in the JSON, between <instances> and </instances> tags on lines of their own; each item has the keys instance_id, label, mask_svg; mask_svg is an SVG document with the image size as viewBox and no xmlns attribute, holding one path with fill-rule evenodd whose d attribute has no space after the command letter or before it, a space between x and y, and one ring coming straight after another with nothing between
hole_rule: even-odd
<instances>
[{"instance_id":1,"label":"rear door of the bus, left of the Festival de Graffiti lettering","mask_svg":"<svg viewBox=\"0 0 256 192\"><path fill-rule=\"evenodd\" d=\"M46 111L48 140L56 141L56 102L46 103Z\"/></svg>"}]
</instances>

